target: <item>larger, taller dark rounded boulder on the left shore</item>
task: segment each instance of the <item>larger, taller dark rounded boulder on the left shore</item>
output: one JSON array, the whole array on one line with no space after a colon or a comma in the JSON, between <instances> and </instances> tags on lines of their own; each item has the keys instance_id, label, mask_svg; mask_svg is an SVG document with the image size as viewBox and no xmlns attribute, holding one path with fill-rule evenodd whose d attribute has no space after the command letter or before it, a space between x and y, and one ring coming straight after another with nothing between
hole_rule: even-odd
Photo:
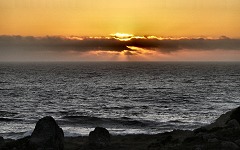
<instances>
[{"instance_id":1,"label":"larger, taller dark rounded boulder on the left shore","mask_svg":"<svg viewBox=\"0 0 240 150\"><path fill-rule=\"evenodd\" d=\"M32 150L63 150L64 134L56 121L50 117L40 119L29 140Z\"/></svg>"}]
</instances>

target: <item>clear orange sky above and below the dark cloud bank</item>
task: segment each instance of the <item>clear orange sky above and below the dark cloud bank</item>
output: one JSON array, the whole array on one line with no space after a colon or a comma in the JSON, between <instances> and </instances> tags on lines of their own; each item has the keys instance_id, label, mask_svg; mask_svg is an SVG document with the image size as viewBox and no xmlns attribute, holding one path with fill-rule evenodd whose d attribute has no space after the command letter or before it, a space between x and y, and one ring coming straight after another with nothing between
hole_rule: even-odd
<instances>
[{"instance_id":1,"label":"clear orange sky above and below the dark cloud bank","mask_svg":"<svg viewBox=\"0 0 240 150\"><path fill-rule=\"evenodd\" d=\"M110 36L129 33L138 36L240 38L239 0L2 0L0 35L20 36ZM1 42L1 41L0 41ZM235 60L239 51L178 50L168 54L142 49L142 53L76 51L64 54L29 54L39 60ZM148 52L146 52L148 50ZM144 52L145 51L145 52ZM117 54L115 54L117 53ZM2 53L1 60L20 59L18 53ZM118 55L118 56L116 56ZM28 55L27 55L28 56ZM51 56L51 58L50 58ZM119 57L121 56L121 57ZM28 57L28 58L29 58ZM26 57L21 58L26 59ZM21 60L20 59L20 60ZM32 59L32 58L31 58ZM30 60L31 60L30 59ZM36 60L36 59L34 59Z\"/></svg>"}]
</instances>

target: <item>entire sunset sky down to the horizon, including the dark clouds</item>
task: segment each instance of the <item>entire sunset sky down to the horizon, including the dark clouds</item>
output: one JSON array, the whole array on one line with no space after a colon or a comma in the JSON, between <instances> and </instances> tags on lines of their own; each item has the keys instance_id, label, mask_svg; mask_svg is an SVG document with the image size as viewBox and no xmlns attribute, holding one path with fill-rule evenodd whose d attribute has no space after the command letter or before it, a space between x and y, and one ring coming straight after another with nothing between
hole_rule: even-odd
<instances>
[{"instance_id":1,"label":"entire sunset sky down to the horizon, including the dark clouds","mask_svg":"<svg viewBox=\"0 0 240 150\"><path fill-rule=\"evenodd\" d=\"M1 0L0 61L240 61L239 27L239 0Z\"/></svg>"}]
</instances>

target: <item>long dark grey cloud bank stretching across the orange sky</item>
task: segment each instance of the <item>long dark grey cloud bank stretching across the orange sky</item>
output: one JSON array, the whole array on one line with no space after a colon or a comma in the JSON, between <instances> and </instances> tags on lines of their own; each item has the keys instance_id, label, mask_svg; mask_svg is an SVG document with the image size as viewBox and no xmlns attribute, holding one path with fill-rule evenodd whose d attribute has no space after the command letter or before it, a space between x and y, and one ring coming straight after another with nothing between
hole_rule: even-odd
<instances>
[{"instance_id":1,"label":"long dark grey cloud bank stretching across the orange sky","mask_svg":"<svg viewBox=\"0 0 240 150\"><path fill-rule=\"evenodd\" d=\"M128 46L170 53L182 49L190 50L240 50L240 39L220 37L219 39L137 39L119 41L114 38L64 38L58 36L0 36L0 53L11 51L78 51L107 50L131 51Z\"/></svg>"}]
</instances>

